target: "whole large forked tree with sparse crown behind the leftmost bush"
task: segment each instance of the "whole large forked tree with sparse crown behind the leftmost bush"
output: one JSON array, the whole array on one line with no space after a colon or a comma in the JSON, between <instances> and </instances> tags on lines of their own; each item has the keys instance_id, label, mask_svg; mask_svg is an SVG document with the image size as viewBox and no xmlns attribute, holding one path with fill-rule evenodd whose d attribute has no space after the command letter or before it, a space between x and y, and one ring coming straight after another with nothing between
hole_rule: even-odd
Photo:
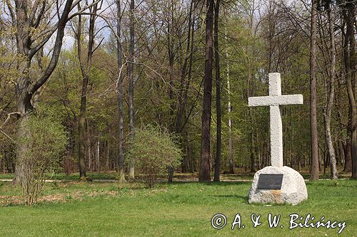
<instances>
[{"instance_id":1,"label":"whole large forked tree with sparse crown behind the leftmost bush","mask_svg":"<svg viewBox=\"0 0 357 237\"><path fill-rule=\"evenodd\" d=\"M17 69L19 78L16 78L16 110L19 115L20 125L17 130L18 137L29 137L26 132L26 120L33 110L33 97L49 79L56 68L59 53L64 38L64 29L69 19L69 13L80 0L67 0L59 3L58 11L52 16L52 3L49 1L15 1L6 0L6 5L11 16L11 24L16 30L16 50L22 60L19 60ZM61 11L60 11L61 9ZM30 73L31 63L34 56L56 33L54 48L51 51L49 64L46 65L40 75ZM26 155L27 147L18 144L16 147L16 173L14 183L18 183L19 177L23 175L23 157Z\"/></svg>"}]
</instances>

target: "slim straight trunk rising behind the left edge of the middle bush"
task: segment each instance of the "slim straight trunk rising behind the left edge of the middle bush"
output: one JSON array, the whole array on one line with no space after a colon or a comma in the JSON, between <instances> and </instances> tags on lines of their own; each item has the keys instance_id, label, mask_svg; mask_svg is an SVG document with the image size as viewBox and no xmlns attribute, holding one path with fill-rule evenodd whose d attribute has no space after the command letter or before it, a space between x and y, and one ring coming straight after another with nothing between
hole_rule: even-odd
<instances>
[{"instance_id":1,"label":"slim straight trunk rising behind the left edge of the middle bush","mask_svg":"<svg viewBox=\"0 0 357 237\"><path fill-rule=\"evenodd\" d=\"M129 78L129 133L130 136L134 136L134 24L135 24L135 0L130 1L130 42L129 42L129 62L128 62L128 78ZM129 177L131 179L135 178L134 160L131 159L129 162Z\"/></svg>"}]
</instances>

